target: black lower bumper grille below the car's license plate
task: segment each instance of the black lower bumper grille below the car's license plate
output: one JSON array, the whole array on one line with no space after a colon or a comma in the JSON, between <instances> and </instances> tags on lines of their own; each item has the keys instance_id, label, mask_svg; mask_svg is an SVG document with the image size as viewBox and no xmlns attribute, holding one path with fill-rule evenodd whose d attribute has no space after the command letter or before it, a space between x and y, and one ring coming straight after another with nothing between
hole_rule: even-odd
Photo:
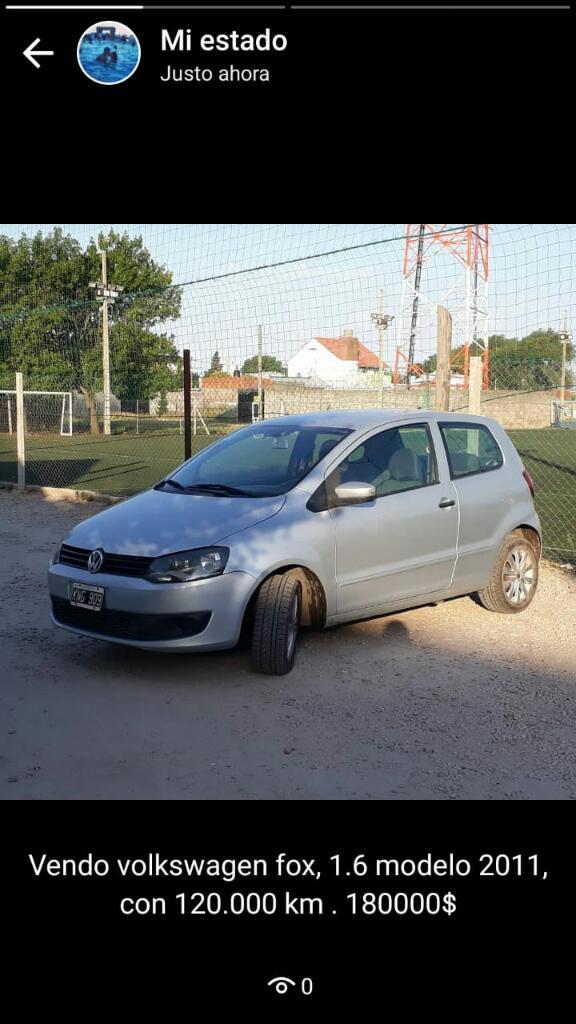
<instances>
[{"instance_id":1,"label":"black lower bumper grille below the car's license plate","mask_svg":"<svg viewBox=\"0 0 576 1024\"><path fill-rule=\"evenodd\" d=\"M52 597L56 622L88 633L118 637L119 640L179 640L195 637L205 630L210 611L193 611L188 615L140 615L132 611L88 611L77 608L61 597Z\"/></svg>"}]
</instances>

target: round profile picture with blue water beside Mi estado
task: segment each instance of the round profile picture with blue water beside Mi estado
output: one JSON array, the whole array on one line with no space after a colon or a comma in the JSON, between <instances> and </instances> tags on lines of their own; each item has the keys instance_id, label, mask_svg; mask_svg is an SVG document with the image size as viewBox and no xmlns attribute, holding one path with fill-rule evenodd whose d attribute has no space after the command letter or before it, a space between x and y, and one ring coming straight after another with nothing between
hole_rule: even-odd
<instances>
[{"instance_id":1,"label":"round profile picture with blue water beside Mi estado","mask_svg":"<svg viewBox=\"0 0 576 1024\"><path fill-rule=\"evenodd\" d=\"M78 63L92 82L118 85L133 75L140 62L140 44L120 22L90 26L78 43Z\"/></svg>"}]
</instances>

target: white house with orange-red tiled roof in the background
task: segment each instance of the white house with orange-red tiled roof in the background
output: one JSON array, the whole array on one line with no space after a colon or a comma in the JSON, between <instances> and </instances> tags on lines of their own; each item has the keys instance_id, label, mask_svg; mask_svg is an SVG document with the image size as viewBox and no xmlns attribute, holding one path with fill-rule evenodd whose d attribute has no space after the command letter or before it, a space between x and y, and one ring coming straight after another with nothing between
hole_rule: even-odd
<instances>
[{"instance_id":1,"label":"white house with orange-red tiled roof in the background","mask_svg":"<svg viewBox=\"0 0 576 1024\"><path fill-rule=\"evenodd\" d=\"M378 356L352 334L313 338L288 359L288 377L313 377L333 386L367 383L366 375L377 370Z\"/></svg>"}]
</instances>

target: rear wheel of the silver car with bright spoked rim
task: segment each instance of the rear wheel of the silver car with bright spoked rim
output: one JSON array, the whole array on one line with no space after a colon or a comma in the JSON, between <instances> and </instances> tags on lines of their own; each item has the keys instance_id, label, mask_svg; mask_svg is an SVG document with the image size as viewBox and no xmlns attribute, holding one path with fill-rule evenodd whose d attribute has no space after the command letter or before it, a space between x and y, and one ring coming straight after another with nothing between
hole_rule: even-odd
<instances>
[{"instance_id":1,"label":"rear wheel of the silver car with bright spoked rim","mask_svg":"<svg viewBox=\"0 0 576 1024\"><path fill-rule=\"evenodd\" d=\"M538 587L538 550L520 529L508 534L486 587L478 592L489 611L517 614L531 603Z\"/></svg>"}]
</instances>

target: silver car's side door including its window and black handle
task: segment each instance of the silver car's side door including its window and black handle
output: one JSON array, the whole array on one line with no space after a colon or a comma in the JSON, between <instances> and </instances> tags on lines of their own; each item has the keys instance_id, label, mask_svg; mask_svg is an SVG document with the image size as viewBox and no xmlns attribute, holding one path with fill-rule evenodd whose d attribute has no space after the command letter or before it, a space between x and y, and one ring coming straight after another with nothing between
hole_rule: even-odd
<instances>
[{"instance_id":1,"label":"silver car's side door including its window and black handle","mask_svg":"<svg viewBox=\"0 0 576 1024\"><path fill-rule=\"evenodd\" d=\"M325 486L335 537L336 614L434 594L450 586L458 509L446 460L439 460L425 422L379 430L328 475ZM337 504L338 483L373 483L376 498Z\"/></svg>"}]
</instances>

